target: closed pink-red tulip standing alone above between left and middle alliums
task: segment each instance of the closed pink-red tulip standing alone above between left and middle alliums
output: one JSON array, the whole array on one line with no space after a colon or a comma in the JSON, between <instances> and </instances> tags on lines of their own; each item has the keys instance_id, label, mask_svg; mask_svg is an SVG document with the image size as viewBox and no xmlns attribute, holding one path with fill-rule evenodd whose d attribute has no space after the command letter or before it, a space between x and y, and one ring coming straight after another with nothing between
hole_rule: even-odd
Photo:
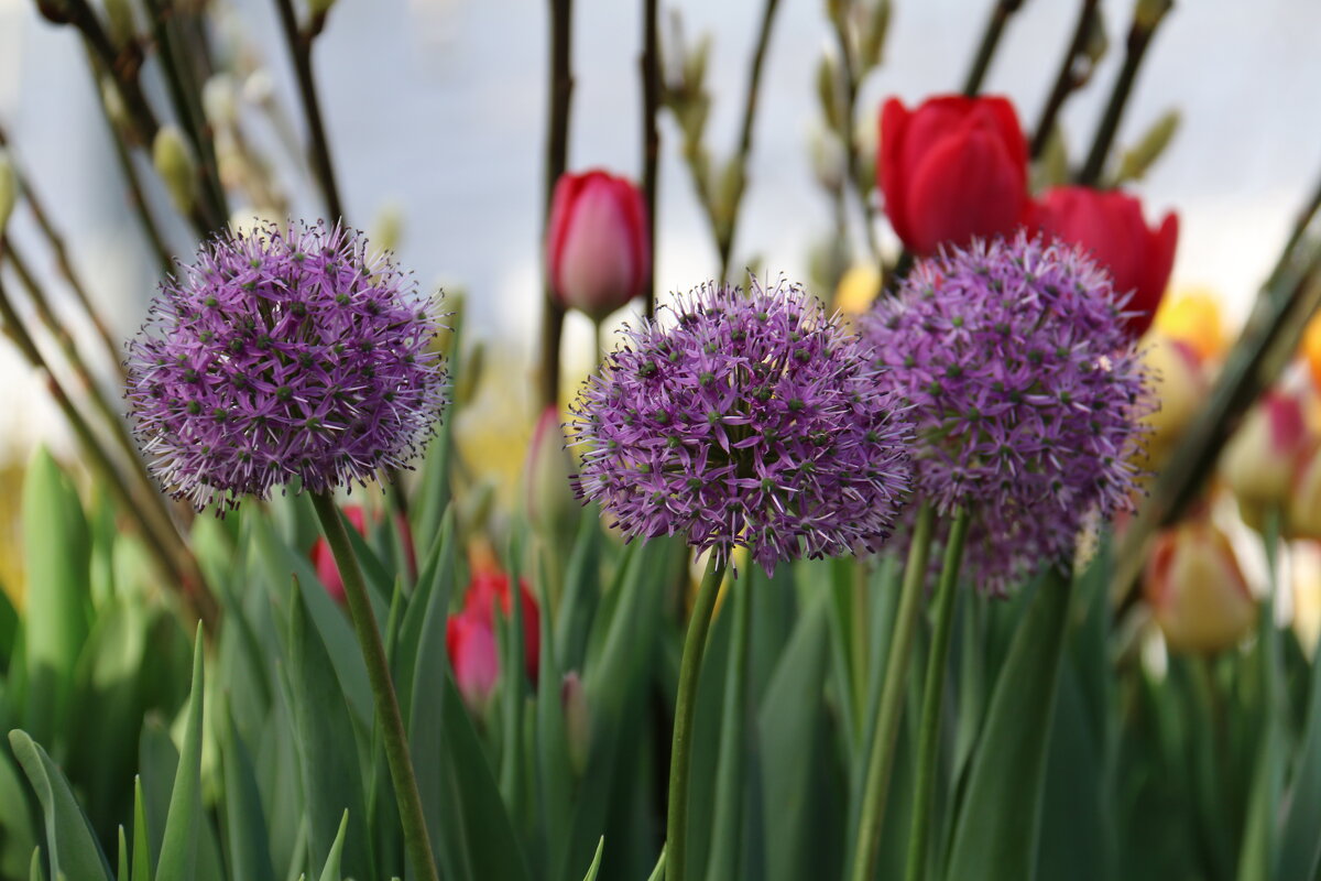
<instances>
[{"instance_id":1,"label":"closed pink-red tulip standing alone above between left and middle alliums","mask_svg":"<svg viewBox=\"0 0 1321 881\"><path fill-rule=\"evenodd\" d=\"M641 296L651 252L638 188L600 170L561 176L551 199L546 264L556 300L592 318Z\"/></svg>"}]
</instances>

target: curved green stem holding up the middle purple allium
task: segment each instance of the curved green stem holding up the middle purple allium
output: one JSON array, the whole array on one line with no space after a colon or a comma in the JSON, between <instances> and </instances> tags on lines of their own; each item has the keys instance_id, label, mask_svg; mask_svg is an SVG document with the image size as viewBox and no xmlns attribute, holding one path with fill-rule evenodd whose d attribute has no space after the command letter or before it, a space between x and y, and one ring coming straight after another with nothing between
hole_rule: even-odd
<instances>
[{"instance_id":1,"label":"curved green stem holding up the middle purple allium","mask_svg":"<svg viewBox=\"0 0 1321 881\"><path fill-rule=\"evenodd\" d=\"M716 609L716 596L725 577L723 563L712 560L697 589L679 662L679 696L674 708L674 741L670 750L670 804L666 823L666 881L683 881L688 857L688 770L692 765L692 722L697 708L697 674L707 651L707 631Z\"/></svg>"}]
</instances>

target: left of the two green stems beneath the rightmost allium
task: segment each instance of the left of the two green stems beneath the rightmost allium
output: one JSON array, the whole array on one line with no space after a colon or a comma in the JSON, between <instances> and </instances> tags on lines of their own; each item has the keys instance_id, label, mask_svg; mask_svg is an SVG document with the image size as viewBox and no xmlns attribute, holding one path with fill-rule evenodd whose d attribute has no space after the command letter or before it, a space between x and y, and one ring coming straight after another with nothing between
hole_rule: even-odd
<instances>
[{"instance_id":1,"label":"left of the two green stems beneath the rightmost allium","mask_svg":"<svg viewBox=\"0 0 1321 881\"><path fill-rule=\"evenodd\" d=\"M908 683L909 659L913 654L913 634L917 631L922 610L922 585L926 581L927 559L931 556L934 519L935 512L930 503L923 503L917 512L913 544L909 547L908 565L904 568L900 608L890 634L885 680L881 683L881 704L876 713L876 732L867 765L863 812L857 827L857 849L853 855L853 881L871 881L876 874L876 852L881 843L881 824L885 820L885 796L889 791L890 770L894 767L894 738L904 712L904 687Z\"/></svg>"}]
</instances>

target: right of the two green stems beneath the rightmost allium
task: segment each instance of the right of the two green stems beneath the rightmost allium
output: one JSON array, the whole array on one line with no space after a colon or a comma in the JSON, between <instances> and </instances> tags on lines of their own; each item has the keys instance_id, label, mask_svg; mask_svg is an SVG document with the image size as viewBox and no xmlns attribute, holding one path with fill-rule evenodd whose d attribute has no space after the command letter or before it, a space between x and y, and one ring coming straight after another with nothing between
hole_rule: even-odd
<instances>
[{"instance_id":1,"label":"right of the two green stems beneath the rightmost allium","mask_svg":"<svg viewBox=\"0 0 1321 881\"><path fill-rule=\"evenodd\" d=\"M909 832L908 881L926 876L926 851L931 837L931 800L935 795L935 759L941 746L941 701L945 699L945 667L950 658L954 631L954 604L958 597L963 540L968 535L968 512L959 511L945 546L945 567L935 594L935 631L926 662L922 687L922 722L918 729L917 791L913 794L913 828Z\"/></svg>"}]
</instances>

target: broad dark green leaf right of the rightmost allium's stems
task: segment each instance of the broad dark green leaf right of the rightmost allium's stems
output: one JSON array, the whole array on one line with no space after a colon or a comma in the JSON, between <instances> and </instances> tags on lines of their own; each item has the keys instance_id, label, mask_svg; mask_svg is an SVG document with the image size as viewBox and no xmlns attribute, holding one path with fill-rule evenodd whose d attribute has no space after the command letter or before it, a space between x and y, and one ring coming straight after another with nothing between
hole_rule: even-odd
<instances>
[{"instance_id":1,"label":"broad dark green leaf right of the rightmost allium's stems","mask_svg":"<svg viewBox=\"0 0 1321 881\"><path fill-rule=\"evenodd\" d=\"M954 827L951 881L1033 877L1071 586L1050 569L996 676Z\"/></svg>"}]
</instances>

